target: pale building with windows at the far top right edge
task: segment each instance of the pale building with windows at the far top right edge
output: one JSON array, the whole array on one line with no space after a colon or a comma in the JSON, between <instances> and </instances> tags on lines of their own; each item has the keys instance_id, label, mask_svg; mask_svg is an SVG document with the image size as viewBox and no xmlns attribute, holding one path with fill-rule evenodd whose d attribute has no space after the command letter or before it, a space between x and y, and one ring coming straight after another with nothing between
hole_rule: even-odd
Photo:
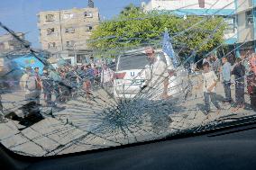
<instances>
[{"instance_id":1,"label":"pale building with windows at the far top right edge","mask_svg":"<svg viewBox=\"0 0 256 170\"><path fill-rule=\"evenodd\" d=\"M234 0L237 15L237 46L256 51L256 0Z\"/></svg>"}]
</instances>

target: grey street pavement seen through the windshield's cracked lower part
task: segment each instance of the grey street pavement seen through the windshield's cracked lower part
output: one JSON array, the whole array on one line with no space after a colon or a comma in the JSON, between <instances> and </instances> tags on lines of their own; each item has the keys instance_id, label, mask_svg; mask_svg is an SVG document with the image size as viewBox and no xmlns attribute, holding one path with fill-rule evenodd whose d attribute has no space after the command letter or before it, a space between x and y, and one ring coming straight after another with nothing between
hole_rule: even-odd
<instances>
[{"instance_id":1,"label":"grey street pavement seen through the windshield's cracked lower part","mask_svg":"<svg viewBox=\"0 0 256 170\"><path fill-rule=\"evenodd\" d=\"M232 94L234 94L233 88L232 86ZM217 85L216 94L219 100L224 96L223 86L220 83ZM7 110L17 112L19 111L17 108L23 104L22 92L5 94L2 97L5 112ZM246 95L246 101L248 100ZM126 103L127 107L133 108L129 104L131 103ZM250 109L232 112L230 104L222 103L223 110L219 115L211 105L213 112L207 116L201 112L200 108L204 106L203 104L202 92L194 89L186 101L178 103L177 108L172 105L172 112L169 114L161 114L159 111L153 112L154 115L151 113L135 115L127 112L123 112L126 115L119 115L117 112L112 112L116 107L114 99L103 89L97 89L90 99L82 95L68 103L58 104L54 108L44 107L41 100L41 112L44 117L42 121L24 127L18 121L9 120L5 124L0 124L0 137L5 147L16 153L50 156L160 139L182 130L199 128L207 123L220 121L226 116L241 118L255 114Z\"/></svg>"}]
</instances>

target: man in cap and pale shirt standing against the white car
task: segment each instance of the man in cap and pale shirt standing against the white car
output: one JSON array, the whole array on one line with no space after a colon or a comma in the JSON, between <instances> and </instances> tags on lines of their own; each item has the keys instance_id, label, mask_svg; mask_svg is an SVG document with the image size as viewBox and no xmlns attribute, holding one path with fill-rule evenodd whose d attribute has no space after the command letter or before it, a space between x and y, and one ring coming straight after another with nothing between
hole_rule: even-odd
<instances>
[{"instance_id":1,"label":"man in cap and pale shirt standing against the white car","mask_svg":"<svg viewBox=\"0 0 256 170\"><path fill-rule=\"evenodd\" d=\"M163 62L160 58L157 58L155 54L155 50L151 47L145 49L145 53L150 62L150 70L146 70L146 75L148 76L147 79L149 79L148 87L155 92L159 90L162 91L162 94L155 93L155 92L151 93L151 94L157 95L152 97L159 98L159 96L161 96L160 98L162 99L169 98L169 95L168 95L169 73L168 73L168 67L166 63Z\"/></svg>"}]
</instances>

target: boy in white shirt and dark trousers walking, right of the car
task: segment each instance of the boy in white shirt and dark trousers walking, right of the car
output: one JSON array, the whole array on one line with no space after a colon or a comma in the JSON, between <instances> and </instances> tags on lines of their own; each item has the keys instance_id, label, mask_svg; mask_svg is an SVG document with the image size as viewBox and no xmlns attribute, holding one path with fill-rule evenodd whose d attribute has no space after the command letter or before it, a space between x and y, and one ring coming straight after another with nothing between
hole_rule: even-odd
<instances>
[{"instance_id":1,"label":"boy in white shirt and dark trousers walking, right of the car","mask_svg":"<svg viewBox=\"0 0 256 170\"><path fill-rule=\"evenodd\" d=\"M214 71L210 70L210 64L208 62L203 64L204 73L203 76L203 92L206 103L206 113L210 112L210 99L217 108L217 113L220 112L221 107L216 101L215 87L217 85L218 78ZM202 84L201 84L202 85ZM200 86L200 85L199 85Z\"/></svg>"}]
</instances>

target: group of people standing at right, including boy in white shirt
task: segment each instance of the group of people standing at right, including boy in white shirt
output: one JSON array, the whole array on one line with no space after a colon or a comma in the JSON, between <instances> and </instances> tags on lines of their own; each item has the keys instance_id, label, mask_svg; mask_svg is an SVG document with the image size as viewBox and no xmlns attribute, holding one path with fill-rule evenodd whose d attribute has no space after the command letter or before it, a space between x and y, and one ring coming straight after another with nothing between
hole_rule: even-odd
<instances>
[{"instance_id":1,"label":"group of people standing at right, including boy in white shirt","mask_svg":"<svg viewBox=\"0 0 256 170\"><path fill-rule=\"evenodd\" d=\"M203 92L206 113L210 112L210 99L217 108L222 110L216 100L215 87L221 81L224 88L224 103L231 103L233 112L246 107L245 94L250 96L251 109L256 111L256 54L242 55L236 58L232 66L229 58L217 58L210 55L203 61ZM232 76L234 79L232 79ZM200 88L198 85L197 88ZM234 99L231 85L234 85ZM249 101L248 101L249 102Z\"/></svg>"}]
</instances>

